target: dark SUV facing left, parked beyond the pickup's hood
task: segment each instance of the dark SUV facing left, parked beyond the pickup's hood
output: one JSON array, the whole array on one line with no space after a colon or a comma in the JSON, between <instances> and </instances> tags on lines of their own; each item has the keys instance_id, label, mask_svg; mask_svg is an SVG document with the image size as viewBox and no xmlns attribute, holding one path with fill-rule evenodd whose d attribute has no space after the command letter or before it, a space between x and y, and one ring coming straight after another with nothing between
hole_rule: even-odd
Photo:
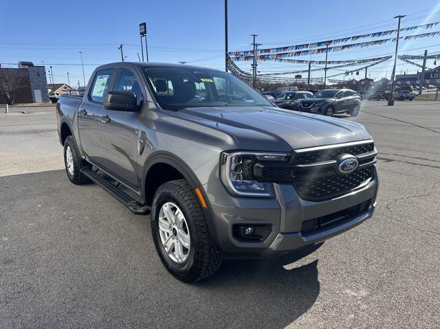
<instances>
[{"instance_id":1,"label":"dark SUV facing left, parked beyond the pickup's hood","mask_svg":"<svg viewBox=\"0 0 440 329\"><path fill-rule=\"evenodd\" d=\"M325 89L318 91L312 98L302 100L298 111L319 113L332 116L336 113L348 113L352 117L359 114L360 95L350 89Z\"/></svg>"}]
</instances>

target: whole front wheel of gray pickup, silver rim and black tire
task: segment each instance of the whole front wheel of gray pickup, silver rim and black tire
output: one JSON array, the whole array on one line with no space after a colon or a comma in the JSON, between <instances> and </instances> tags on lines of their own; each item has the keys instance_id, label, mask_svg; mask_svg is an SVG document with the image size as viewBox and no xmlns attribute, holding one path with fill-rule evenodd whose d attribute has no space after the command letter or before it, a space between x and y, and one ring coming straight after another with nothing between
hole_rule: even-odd
<instances>
[{"instance_id":1,"label":"whole front wheel of gray pickup, silver rim and black tire","mask_svg":"<svg viewBox=\"0 0 440 329\"><path fill-rule=\"evenodd\" d=\"M154 244L168 272L183 282L197 282L219 269L221 254L195 192L184 179L161 185L151 210Z\"/></svg>"}]
</instances>

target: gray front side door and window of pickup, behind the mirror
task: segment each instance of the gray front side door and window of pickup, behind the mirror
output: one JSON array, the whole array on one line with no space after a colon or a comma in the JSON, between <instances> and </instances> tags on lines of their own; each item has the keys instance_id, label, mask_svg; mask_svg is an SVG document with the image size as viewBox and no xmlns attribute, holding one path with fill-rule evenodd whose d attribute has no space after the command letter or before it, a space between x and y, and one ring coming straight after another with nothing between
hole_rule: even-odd
<instances>
[{"instance_id":1,"label":"gray front side door and window of pickup, behind the mirror","mask_svg":"<svg viewBox=\"0 0 440 329\"><path fill-rule=\"evenodd\" d=\"M129 67L118 69L113 91L132 91L137 104L145 99L137 73ZM102 131L102 161L100 164L110 174L139 188L137 181L137 111L115 111L102 109L100 124Z\"/></svg>"}]
</instances>

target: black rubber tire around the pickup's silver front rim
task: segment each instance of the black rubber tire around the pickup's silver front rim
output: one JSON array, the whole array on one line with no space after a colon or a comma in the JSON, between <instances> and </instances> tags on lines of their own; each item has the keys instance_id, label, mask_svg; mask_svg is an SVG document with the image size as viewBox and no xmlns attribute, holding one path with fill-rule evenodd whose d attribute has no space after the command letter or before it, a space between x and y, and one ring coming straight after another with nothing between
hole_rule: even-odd
<instances>
[{"instance_id":1,"label":"black rubber tire around the pickup's silver front rim","mask_svg":"<svg viewBox=\"0 0 440 329\"><path fill-rule=\"evenodd\" d=\"M183 212L190 236L188 258L175 262L168 256L159 235L159 212L164 203L172 202ZM151 208L151 233L162 264L177 279L197 282L212 275L221 265L221 253L212 243L203 211L195 192L184 179L169 181L157 189Z\"/></svg>"}]
</instances>

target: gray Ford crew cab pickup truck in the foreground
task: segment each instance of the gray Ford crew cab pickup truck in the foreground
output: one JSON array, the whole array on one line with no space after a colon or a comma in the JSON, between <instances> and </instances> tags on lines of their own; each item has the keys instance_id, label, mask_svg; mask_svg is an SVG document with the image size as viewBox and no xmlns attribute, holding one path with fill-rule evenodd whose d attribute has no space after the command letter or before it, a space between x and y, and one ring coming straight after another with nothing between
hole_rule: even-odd
<instances>
[{"instance_id":1,"label":"gray Ford crew cab pickup truck in the foreground","mask_svg":"<svg viewBox=\"0 0 440 329\"><path fill-rule=\"evenodd\" d=\"M317 244L375 209L377 152L361 124L279 109L223 71L103 65L56 115L69 180L151 213L159 258L184 282L222 259Z\"/></svg>"}]
</instances>

